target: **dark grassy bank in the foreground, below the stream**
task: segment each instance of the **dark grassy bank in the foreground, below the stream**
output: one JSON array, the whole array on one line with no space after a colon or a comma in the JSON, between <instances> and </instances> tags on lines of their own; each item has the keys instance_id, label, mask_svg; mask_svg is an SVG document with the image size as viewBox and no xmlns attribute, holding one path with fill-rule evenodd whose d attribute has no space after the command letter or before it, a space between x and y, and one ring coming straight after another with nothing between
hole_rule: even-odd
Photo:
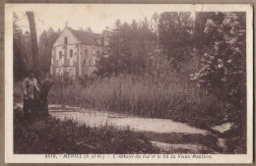
<instances>
[{"instance_id":1,"label":"dark grassy bank in the foreground, below the stream","mask_svg":"<svg viewBox=\"0 0 256 166\"><path fill-rule=\"evenodd\" d=\"M14 111L14 153L159 153L141 134L112 127L89 128L71 120L25 120Z\"/></svg>"}]
</instances>

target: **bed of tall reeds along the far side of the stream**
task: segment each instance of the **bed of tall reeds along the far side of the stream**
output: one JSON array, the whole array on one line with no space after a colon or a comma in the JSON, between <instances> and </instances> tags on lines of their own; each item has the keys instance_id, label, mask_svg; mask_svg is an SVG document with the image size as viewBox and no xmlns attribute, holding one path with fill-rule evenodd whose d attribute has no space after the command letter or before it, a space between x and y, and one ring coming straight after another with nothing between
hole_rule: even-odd
<instances>
[{"instance_id":1,"label":"bed of tall reeds along the far side of the stream","mask_svg":"<svg viewBox=\"0 0 256 166\"><path fill-rule=\"evenodd\" d=\"M142 117L169 118L191 122L195 126L204 126L206 122L215 124L224 117L224 106L216 96L177 75L168 78L120 75L96 79L86 87L55 84L49 93L49 102Z\"/></svg>"}]
</instances>

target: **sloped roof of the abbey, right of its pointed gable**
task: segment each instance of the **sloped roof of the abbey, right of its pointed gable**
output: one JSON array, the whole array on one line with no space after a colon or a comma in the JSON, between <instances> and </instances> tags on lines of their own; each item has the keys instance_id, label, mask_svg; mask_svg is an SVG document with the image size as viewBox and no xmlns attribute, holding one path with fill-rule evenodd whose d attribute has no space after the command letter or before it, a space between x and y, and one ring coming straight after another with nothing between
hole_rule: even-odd
<instances>
[{"instance_id":1,"label":"sloped roof of the abbey, right of its pointed gable","mask_svg":"<svg viewBox=\"0 0 256 166\"><path fill-rule=\"evenodd\" d=\"M83 44L87 45L99 45L96 42L96 38L102 37L102 34L89 32L89 31L82 31L69 28L69 30L75 35L75 37L80 40Z\"/></svg>"}]
</instances>

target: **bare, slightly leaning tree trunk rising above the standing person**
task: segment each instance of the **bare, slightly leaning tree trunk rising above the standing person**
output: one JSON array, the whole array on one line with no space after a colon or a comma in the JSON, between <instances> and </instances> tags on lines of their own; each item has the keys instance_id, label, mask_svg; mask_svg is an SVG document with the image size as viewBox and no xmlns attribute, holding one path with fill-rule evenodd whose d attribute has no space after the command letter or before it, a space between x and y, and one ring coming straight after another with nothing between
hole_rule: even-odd
<instances>
[{"instance_id":1,"label":"bare, slightly leaning tree trunk rising above the standing person","mask_svg":"<svg viewBox=\"0 0 256 166\"><path fill-rule=\"evenodd\" d=\"M34 15L33 15L33 12L26 12L26 14L29 19L31 36L32 36L32 69L38 72L38 47L37 47Z\"/></svg>"}]
</instances>

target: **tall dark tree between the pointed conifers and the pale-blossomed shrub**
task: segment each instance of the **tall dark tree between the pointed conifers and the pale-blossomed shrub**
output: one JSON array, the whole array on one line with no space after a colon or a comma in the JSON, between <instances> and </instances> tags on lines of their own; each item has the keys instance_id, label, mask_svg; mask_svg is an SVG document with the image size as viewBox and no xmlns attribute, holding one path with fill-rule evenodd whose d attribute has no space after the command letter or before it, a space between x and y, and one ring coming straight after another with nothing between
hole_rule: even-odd
<instances>
[{"instance_id":1,"label":"tall dark tree between the pointed conifers and the pale-blossomed shrub","mask_svg":"<svg viewBox=\"0 0 256 166\"><path fill-rule=\"evenodd\" d=\"M164 12L159 21L160 49L170 65L179 70L190 59L193 22L189 12Z\"/></svg>"}]
</instances>

